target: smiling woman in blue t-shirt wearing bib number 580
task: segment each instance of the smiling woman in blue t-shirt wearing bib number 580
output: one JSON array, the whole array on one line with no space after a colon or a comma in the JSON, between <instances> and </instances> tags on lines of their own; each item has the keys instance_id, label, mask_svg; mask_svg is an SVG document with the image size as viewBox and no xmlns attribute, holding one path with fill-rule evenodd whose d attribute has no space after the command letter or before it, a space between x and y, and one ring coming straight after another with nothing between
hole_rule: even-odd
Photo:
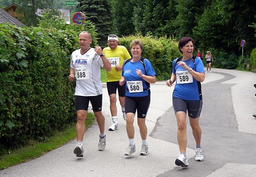
<instances>
[{"instance_id":1,"label":"smiling woman in blue t-shirt wearing bib number 580","mask_svg":"<svg viewBox=\"0 0 256 177\"><path fill-rule=\"evenodd\" d=\"M134 142L134 117L137 110L138 126L142 139L140 155L148 155L147 126L145 118L150 104L149 83L156 82L156 73L150 61L141 57L143 44L139 40L134 40L130 44L132 58L124 61L122 67L122 78L119 84L125 84L125 113L126 131L129 138L129 145L125 155L131 156L135 151Z\"/></svg>"}]
</instances>

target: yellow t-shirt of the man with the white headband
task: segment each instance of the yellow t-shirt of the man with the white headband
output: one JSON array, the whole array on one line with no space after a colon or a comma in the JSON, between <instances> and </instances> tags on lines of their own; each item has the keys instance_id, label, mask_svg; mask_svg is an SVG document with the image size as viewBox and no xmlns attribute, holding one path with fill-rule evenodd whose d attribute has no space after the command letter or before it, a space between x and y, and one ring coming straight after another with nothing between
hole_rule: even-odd
<instances>
[{"instance_id":1,"label":"yellow t-shirt of the man with the white headband","mask_svg":"<svg viewBox=\"0 0 256 177\"><path fill-rule=\"evenodd\" d=\"M111 63L112 70L107 72L107 82L119 81L121 79L122 70L116 71L115 65L122 67L126 59L131 58L125 46L117 46L116 49L106 47L103 49L105 56Z\"/></svg>"}]
</instances>

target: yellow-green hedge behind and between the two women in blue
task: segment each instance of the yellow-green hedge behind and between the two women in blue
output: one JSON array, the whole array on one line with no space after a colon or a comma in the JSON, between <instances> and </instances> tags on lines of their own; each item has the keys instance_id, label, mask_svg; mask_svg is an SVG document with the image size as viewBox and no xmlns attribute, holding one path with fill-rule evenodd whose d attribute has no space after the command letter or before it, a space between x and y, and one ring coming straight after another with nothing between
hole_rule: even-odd
<instances>
[{"instance_id":1,"label":"yellow-green hedge behind and between the two women in blue","mask_svg":"<svg viewBox=\"0 0 256 177\"><path fill-rule=\"evenodd\" d=\"M134 39L142 41L142 57L151 62L157 74L157 80L169 79L172 74L172 61L181 55L178 42L166 37L131 35L120 38L119 44L125 46L130 52L130 44Z\"/></svg>"}]
</instances>

